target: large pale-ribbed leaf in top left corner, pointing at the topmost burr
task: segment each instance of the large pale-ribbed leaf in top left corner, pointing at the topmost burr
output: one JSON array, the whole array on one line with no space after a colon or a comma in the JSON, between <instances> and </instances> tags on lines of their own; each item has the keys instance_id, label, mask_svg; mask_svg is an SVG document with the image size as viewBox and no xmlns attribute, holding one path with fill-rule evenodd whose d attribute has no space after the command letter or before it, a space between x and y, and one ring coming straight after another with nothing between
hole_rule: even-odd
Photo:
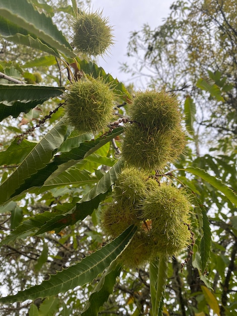
<instances>
[{"instance_id":1,"label":"large pale-ribbed leaf in top left corner, pointing at the topmost burr","mask_svg":"<svg viewBox=\"0 0 237 316\"><path fill-rule=\"evenodd\" d=\"M72 46L62 31L59 31L53 24L52 19L44 13L36 11L27 1L0 0L0 15L62 51L66 56L76 57Z\"/></svg>"}]
</instances>

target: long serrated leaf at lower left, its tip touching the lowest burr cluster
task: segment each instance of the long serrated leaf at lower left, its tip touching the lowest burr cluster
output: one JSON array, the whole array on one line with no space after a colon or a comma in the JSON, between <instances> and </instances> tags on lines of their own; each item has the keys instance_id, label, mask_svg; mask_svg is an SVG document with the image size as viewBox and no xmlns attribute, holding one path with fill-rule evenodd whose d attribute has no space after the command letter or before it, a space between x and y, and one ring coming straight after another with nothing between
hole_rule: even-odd
<instances>
[{"instance_id":1,"label":"long serrated leaf at lower left, its tip touching the lowest burr cluster","mask_svg":"<svg viewBox=\"0 0 237 316\"><path fill-rule=\"evenodd\" d=\"M126 229L115 240L102 247L100 250L82 259L78 264L68 269L51 275L50 279L43 281L40 285L33 286L25 291L20 291L16 295L10 295L0 298L2 303L12 303L17 301L25 301L28 299L36 299L65 293L77 286L83 286L92 280L107 268L126 247L137 227L133 225Z\"/></svg>"}]
</instances>

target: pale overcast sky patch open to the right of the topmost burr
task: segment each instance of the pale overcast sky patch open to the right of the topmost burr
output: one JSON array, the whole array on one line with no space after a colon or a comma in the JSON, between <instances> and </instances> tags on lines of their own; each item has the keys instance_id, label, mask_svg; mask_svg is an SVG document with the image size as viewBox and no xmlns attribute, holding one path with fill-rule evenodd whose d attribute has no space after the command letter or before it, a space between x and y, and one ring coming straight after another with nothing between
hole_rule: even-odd
<instances>
[{"instance_id":1,"label":"pale overcast sky patch open to the right of the topmost burr","mask_svg":"<svg viewBox=\"0 0 237 316\"><path fill-rule=\"evenodd\" d=\"M114 78L130 83L129 74L119 71L120 63L130 62L126 57L129 35L148 23L152 28L159 26L169 14L169 7L174 0L91 0L94 10L103 10L113 26L114 45L111 54L99 59L99 65ZM132 61L131 61L132 62Z\"/></svg>"}]
</instances>

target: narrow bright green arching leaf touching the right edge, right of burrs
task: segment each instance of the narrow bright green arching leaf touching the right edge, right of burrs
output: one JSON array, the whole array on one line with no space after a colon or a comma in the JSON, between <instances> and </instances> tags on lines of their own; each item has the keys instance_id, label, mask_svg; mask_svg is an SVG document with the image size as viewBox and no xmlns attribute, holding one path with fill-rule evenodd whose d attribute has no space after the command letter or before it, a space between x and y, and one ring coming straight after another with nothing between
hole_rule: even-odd
<instances>
[{"instance_id":1,"label":"narrow bright green arching leaf touching the right edge, right of burrs","mask_svg":"<svg viewBox=\"0 0 237 316\"><path fill-rule=\"evenodd\" d=\"M205 180L206 182L210 183L214 188L222 192L226 198L230 200L233 204L237 206L237 195L231 190L226 184L218 180L214 176L210 176L204 170L194 167L188 167L185 171L192 173L195 176L198 176Z\"/></svg>"}]
</instances>

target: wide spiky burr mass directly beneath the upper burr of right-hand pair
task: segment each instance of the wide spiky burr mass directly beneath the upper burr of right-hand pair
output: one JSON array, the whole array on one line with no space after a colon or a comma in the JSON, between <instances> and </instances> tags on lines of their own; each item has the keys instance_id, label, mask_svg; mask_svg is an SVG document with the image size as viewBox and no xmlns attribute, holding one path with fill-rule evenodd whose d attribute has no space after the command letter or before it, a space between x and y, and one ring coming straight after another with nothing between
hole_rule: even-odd
<instances>
[{"instance_id":1,"label":"wide spiky burr mass directly beneath the upper burr of right-hand pair","mask_svg":"<svg viewBox=\"0 0 237 316\"><path fill-rule=\"evenodd\" d=\"M129 167L162 172L168 162L175 162L185 144L185 132L179 125L161 131L133 123L125 127L122 156Z\"/></svg>"}]
</instances>

